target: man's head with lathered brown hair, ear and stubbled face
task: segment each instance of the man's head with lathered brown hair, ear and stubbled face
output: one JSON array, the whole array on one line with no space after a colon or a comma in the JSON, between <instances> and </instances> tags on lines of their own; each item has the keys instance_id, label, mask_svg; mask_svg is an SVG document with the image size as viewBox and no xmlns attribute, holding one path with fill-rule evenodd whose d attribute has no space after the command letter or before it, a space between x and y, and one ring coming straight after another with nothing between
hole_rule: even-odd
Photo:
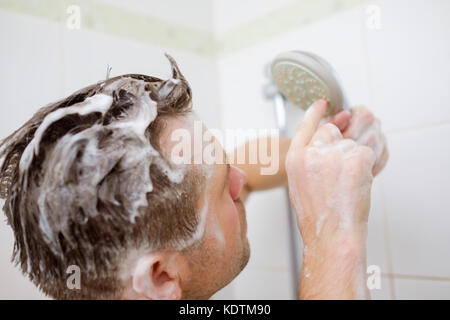
<instances>
[{"instance_id":1,"label":"man's head with lathered brown hair, ear and stubbled face","mask_svg":"<svg viewBox=\"0 0 450 320\"><path fill-rule=\"evenodd\" d=\"M194 118L168 58L171 79L108 79L40 109L1 143L14 259L46 294L208 298L246 265L245 174L171 160L172 133L193 133ZM79 289L67 286L70 266Z\"/></svg>"}]
</instances>

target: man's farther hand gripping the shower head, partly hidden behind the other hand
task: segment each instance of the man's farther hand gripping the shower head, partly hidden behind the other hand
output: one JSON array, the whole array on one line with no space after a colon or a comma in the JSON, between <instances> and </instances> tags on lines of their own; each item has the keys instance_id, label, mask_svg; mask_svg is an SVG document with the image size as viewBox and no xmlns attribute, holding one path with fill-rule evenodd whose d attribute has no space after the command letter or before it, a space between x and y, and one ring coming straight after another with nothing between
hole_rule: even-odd
<instances>
[{"instance_id":1,"label":"man's farther hand gripping the shower head, partly hidden behind the other hand","mask_svg":"<svg viewBox=\"0 0 450 320\"><path fill-rule=\"evenodd\" d=\"M344 138L368 146L375 152L377 161L372 173L376 176L384 168L389 157L380 120L375 118L368 109L356 107L336 114L331 119L331 123L341 130Z\"/></svg>"}]
</instances>

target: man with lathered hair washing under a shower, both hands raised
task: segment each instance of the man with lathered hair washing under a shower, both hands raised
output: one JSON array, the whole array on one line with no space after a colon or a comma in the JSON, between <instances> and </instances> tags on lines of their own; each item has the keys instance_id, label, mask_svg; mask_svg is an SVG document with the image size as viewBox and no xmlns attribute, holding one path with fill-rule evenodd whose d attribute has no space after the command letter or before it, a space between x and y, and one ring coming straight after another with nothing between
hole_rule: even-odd
<instances>
[{"instance_id":1,"label":"man with lathered hair washing under a shower, both hands raised","mask_svg":"<svg viewBox=\"0 0 450 320\"><path fill-rule=\"evenodd\" d=\"M57 299L208 299L248 262L247 195L288 181L306 249L301 298L363 298L370 186L387 159L378 122L359 108L320 125L327 105L316 102L280 141L274 175L227 163L214 138L212 152L180 152L174 137L195 139L196 119L168 58L171 79L108 79L2 142L0 196L22 271Z\"/></svg>"}]
</instances>

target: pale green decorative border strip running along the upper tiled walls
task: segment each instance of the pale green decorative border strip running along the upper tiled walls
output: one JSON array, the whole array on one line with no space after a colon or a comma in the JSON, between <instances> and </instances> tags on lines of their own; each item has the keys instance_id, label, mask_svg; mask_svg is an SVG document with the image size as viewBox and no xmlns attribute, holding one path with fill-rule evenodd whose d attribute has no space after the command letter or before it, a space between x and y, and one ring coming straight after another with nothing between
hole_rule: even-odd
<instances>
[{"instance_id":1,"label":"pale green decorative border strip running along the upper tiled walls","mask_svg":"<svg viewBox=\"0 0 450 320\"><path fill-rule=\"evenodd\" d=\"M170 23L111 4L89 0L0 0L0 10L64 22L64 6L78 5L83 12L83 29L112 34L137 42L180 49L201 56L221 58L250 45L267 42L291 30L353 8L365 0L291 1L266 15L253 18L216 34ZM213 9L214 10L214 9ZM268 31L269 30L269 31Z\"/></svg>"}]
</instances>

